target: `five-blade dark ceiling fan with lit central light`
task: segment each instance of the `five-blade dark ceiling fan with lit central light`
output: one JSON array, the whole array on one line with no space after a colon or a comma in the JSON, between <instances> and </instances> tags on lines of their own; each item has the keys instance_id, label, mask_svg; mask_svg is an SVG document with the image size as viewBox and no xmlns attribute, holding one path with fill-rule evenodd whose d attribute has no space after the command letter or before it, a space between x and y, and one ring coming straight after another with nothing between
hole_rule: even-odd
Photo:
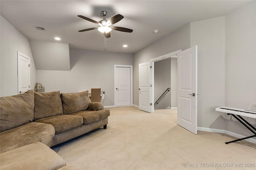
<instances>
[{"instance_id":1,"label":"five-blade dark ceiling fan with lit central light","mask_svg":"<svg viewBox=\"0 0 256 170\"><path fill-rule=\"evenodd\" d=\"M110 38L110 31L112 31L112 30L122 31L122 32L132 32L133 31L133 30L131 30L129 28L112 26L113 24L115 24L118 21L122 20L124 18L124 16L122 16L120 14L117 14L117 15L113 16L112 18L110 18L109 20L106 20L106 15L108 14L108 12L102 11L101 14L103 16L103 20L100 20L99 22L94 21L94 20L92 20L90 18L87 18L85 16L78 15L78 17L83 18L84 20L87 20L87 21L90 21L90 22L93 22L93 23L99 25L98 27L87 28L87 29L84 29L84 30L80 30L78 32L84 32L84 31L90 31L90 30L98 29L98 31L102 32L103 35L106 38Z\"/></svg>"}]
</instances>

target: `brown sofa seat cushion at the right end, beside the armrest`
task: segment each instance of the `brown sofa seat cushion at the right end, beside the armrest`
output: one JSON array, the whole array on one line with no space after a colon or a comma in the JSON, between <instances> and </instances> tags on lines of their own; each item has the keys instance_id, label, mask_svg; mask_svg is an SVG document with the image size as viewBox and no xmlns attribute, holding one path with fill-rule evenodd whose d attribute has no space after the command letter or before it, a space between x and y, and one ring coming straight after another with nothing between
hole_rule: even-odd
<instances>
[{"instance_id":1,"label":"brown sofa seat cushion at the right end, beside the armrest","mask_svg":"<svg viewBox=\"0 0 256 170\"><path fill-rule=\"evenodd\" d=\"M84 125L88 125L108 117L110 115L110 110L104 109L100 111L80 111L70 115L82 116L84 119Z\"/></svg>"}]
</instances>

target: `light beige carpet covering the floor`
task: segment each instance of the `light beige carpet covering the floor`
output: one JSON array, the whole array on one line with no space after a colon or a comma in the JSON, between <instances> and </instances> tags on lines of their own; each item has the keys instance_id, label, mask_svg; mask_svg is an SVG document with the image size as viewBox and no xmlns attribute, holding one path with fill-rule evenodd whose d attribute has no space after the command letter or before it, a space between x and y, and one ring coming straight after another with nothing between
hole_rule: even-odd
<instances>
[{"instance_id":1,"label":"light beige carpet covering the floor","mask_svg":"<svg viewBox=\"0 0 256 170\"><path fill-rule=\"evenodd\" d=\"M109 108L107 129L99 128L52 147L67 165L81 170L255 169L256 144L232 136L177 125L177 111L146 113ZM254 166L246 168L246 166Z\"/></svg>"}]
</instances>

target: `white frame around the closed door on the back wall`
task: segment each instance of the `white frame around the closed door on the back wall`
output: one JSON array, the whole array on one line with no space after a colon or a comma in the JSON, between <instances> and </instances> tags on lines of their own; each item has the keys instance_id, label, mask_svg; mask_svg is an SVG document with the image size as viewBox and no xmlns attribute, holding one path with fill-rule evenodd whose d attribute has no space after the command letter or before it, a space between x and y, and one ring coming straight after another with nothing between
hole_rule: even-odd
<instances>
[{"instance_id":1,"label":"white frame around the closed door on the back wall","mask_svg":"<svg viewBox=\"0 0 256 170\"><path fill-rule=\"evenodd\" d=\"M133 104L133 67L132 65L114 65L114 106L116 106L116 67L129 67L130 68L130 106ZM129 105L128 105L129 106Z\"/></svg>"}]
</instances>

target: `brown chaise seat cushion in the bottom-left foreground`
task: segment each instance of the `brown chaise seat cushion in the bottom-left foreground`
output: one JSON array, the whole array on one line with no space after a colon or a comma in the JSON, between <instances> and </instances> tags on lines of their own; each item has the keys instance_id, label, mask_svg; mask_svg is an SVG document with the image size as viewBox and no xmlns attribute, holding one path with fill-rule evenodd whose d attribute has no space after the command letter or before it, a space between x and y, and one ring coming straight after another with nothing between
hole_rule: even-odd
<instances>
[{"instance_id":1,"label":"brown chaise seat cushion in the bottom-left foreground","mask_svg":"<svg viewBox=\"0 0 256 170\"><path fill-rule=\"evenodd\" d=\"M4 152L0 156L2 170L56 170L66 166L62 157L41 142Z\"/></svg>"}]
</instances>

